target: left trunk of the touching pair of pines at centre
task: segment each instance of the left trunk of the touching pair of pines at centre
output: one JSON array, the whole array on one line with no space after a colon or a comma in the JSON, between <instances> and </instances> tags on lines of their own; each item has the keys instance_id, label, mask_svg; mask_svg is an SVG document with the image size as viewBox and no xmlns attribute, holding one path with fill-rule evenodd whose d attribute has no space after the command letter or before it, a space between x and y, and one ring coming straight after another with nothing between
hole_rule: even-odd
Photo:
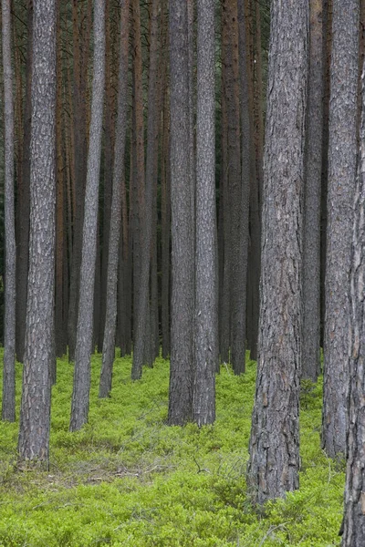
<instances>
[{"instance_id":1,"label":"left trunk of the touching pair of pines at centre","mask_svg":"<svg viewBox=\"0 0 365 547\"><path fill-rule=\"evenodd\" d=\"M188 10L170 0L172 330L169 424L192 418L193 403L193 226L190 178Z\"/></svg>"}]
</instances>

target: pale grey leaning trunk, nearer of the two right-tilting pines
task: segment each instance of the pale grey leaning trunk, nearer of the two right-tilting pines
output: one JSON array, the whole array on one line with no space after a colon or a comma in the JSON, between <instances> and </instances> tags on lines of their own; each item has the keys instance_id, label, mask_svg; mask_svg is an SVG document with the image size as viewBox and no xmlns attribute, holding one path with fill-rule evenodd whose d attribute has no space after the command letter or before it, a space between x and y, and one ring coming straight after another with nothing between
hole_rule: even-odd
<instances>
[{"instance_id":1,"label":"pale grey leaning trunk, nearer of the two right-tilting pines","mask_svg":"<svg viewBox=\"0 0 365 547\"><path fill-rule=\"evenodd\" d=\"M105 0L94 3L94 59L89 132L88 174L82 238L78 332L75 352L74 387L70 430L81 428L88 420L90 357L93 335L95 259L97 251L99 170L105 84Z\"/></svg>"}]
</instances>

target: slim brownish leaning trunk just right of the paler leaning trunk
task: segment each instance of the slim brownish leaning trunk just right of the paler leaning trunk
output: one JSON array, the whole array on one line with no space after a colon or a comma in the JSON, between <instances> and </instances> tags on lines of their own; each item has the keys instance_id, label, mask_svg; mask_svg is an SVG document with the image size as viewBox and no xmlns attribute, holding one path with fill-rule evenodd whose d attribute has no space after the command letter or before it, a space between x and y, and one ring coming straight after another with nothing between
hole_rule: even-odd
<instances>
[{"instance_id":1,"label":"slim brownish leaning trunk just right of the paler leaning trunk","mask_svg":"<svg viewBox=\"0 0 365 547\"><path fill-rule=\"evenodd\" d=\"M128 115L128 36L130 0L120 4L120 73L118 89L118 120L116 128L113 187L110 216L110 242L108 259L107 308L105 319L99 397L108 397L111 390L112 366L115 353L117 325L117 287L120 244L120 219L122 208L122 181L125 177L125 145ZM123 196L125 199L125 196Z\"/></svg>"}]
</instances>

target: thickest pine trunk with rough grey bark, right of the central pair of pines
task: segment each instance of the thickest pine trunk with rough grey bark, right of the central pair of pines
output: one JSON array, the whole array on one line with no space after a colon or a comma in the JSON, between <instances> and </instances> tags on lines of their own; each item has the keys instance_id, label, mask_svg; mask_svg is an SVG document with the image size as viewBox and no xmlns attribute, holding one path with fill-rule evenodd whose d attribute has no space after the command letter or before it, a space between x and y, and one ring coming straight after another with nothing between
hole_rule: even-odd
<instances>
[{"instance_id":1,"label":"thickest pine trunk with rough grey bark, right of the central pair of pines","mask_svg":"<svg viewBox=\"0 0 365 547\"><path fill-rule=\"evenodd\" d=\"M308 7L307 0L271 6L259 358L247 470L258 503L298 487Z\"/></svg>"}]
</instances>

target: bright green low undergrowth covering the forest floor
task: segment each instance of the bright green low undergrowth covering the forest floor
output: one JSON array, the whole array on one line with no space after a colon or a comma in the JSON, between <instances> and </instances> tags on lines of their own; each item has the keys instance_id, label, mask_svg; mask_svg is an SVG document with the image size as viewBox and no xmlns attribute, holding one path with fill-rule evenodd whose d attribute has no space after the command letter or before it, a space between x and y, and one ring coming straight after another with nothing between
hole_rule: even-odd
<instances>
[{"instance_id":1,"label":"bright green low undergrowth covering the forest floor","mask_svg":"<svg viewBox=\"0 0 365 547\"><path fill-rule=\"evenodd\" d=\"M343 462L320 449L320 384L302 392L300 490L257 511L245 494L255 363L242 377L222 367L216 422L201 429L166 425L168 362L134 383L130 365L116 359L100 400L93 356L89 424L70 433L72 366L58 361L48 471L19 468L18 424L0 424L0 547L339 545ZM20 384L18 366L18 403Z\"/></svg>"}]
</instances>

